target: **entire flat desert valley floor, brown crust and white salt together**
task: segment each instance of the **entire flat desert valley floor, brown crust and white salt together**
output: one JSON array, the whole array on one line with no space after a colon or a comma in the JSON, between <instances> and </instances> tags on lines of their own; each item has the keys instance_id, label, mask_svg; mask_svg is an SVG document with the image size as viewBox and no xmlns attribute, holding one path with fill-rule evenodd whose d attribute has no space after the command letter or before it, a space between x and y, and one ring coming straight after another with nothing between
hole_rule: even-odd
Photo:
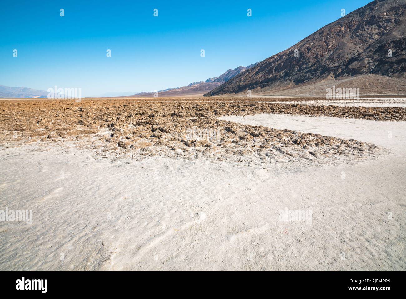
<instances>
[{"instance_id":1,"label":"entire flat desert valley floor, brown crust and white salt together","mask_svg":"<svg viewBox=\"0 0 406 299\"><path fill-rule=\"evenodd\" d=\"M0 132L32 210L0 270L406 269L402 98L0 100Z\"/></svg>"}]
</instances>

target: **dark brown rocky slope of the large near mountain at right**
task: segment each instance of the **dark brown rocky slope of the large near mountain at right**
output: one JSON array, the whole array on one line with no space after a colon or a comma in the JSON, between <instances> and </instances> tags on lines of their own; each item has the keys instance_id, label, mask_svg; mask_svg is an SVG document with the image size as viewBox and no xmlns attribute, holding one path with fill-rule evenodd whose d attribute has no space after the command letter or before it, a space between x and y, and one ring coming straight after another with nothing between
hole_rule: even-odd
<instances>
[{"instance_id":1,"label":"dark brown rocky slope of the large near mountain at right","mask_svg":"<svg viewBox=\"0 0 406 299\"><path fill-rule=\"evenodd\" d=\"M405 32L406 0L376 0L205 95L297 86L325 78L365 74L405 79Z\"/></svg>"}]
</instances>

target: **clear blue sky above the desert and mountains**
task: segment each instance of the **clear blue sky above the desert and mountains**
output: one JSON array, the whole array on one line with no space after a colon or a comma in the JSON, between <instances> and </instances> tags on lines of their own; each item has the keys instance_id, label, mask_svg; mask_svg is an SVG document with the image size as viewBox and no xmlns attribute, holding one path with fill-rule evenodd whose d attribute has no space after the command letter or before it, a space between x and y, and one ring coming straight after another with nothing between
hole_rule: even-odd
<instances>
[{"instance_id":1,"label":"clear blue sky above the desert and mountains","mask_svg":"<svg viewBox=\"0 0 406 299\"><path fill-rule=\"evenodd\" d=\"M3 1L0 85L82 96L180 87L268 58L370 1L170 2Z\"/></svg>"}]
</instances>

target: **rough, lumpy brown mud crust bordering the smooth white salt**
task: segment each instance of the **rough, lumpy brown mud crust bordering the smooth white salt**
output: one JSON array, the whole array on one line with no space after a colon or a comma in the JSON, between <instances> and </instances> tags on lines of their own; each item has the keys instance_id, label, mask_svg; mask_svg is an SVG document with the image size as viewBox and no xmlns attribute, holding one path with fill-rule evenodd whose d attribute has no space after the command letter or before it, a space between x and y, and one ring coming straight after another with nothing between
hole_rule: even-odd
<instances>
[{"instance_id":1,"label":"rough, lumpy brown mud crust bordering the smooth white salt","mask_svg":"<svg viewBox=\"0 0 406 299\"><path fill-rule=\"evenodd\" d=\"M288 113L399 119L405 117L405 111L404 108L236 103L224 99L222 102L2 100L0 145L71 142L74 147L93 150L95 158L112 159L161 155L249 163L339 163L367 158L380 150L361 141L241 125L218 117Z\"/></svg>"}]
</instances>

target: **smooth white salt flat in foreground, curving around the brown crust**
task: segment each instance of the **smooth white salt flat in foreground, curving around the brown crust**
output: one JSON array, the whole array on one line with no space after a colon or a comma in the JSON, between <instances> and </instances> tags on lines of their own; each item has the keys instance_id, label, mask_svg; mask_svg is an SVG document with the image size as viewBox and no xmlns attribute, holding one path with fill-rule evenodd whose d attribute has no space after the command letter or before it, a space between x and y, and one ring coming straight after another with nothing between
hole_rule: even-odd
<instances>
[{"instance_id":1,"label":"smooth white salt flat in foreground, curving around the brown crust","mask_svg":"<svg viewBox=\"0 0 406 299\"><path fill-rule=\"evenodd\" d=\"M0 222L0 270L406 269L406 122L229 119L358 137L393 153L272 168L95 160L68 143L2 149L0 209L32 209L33 221ZM286 209L312 216L281 221Z\"/></svg>"}]
</instances>

